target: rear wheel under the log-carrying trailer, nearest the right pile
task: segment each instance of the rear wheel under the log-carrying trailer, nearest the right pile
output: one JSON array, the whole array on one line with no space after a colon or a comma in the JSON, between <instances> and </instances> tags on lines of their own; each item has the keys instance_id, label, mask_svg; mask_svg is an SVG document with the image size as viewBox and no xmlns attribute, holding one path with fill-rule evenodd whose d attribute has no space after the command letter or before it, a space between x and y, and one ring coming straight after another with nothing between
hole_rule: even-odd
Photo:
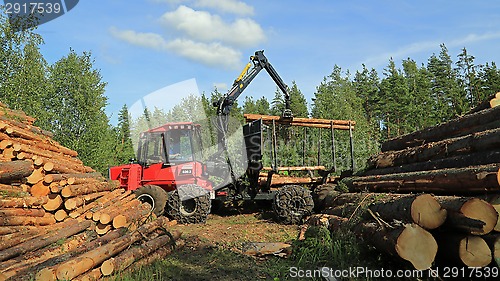
<instances>
[{"instance_id":1,"label":"rear wheel under the log-carrying trailer, nearest the right pile","mask_svg":"<svg viewBox=\"0 0 500 281\"><path fill-rule=\"evenodd\" d=\"M274 196L273 209L276 218L283 224L302 223L313 208L311 191L298 185L285 185Z\"/></svg>"}]
</instances>

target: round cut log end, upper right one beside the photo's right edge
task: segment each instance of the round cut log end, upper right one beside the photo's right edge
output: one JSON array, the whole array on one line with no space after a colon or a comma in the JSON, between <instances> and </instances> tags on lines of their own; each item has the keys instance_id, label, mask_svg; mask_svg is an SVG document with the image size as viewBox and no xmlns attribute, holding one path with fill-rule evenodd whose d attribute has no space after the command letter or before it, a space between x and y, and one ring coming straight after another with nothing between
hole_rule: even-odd
<instances>
[{"instance_id":1,"label":"round cut log end, upper right one beside the photo's right edge","mask_svg":"<svg viewBox=\"0 0 500 281\"><path fill-rule=\"evenodd\" d=\"M468 218L476 219L484 223L482 229L471 231L474 235L484 235L490 233L496 226L498 221L498 213L488 202L472 198L465 202L460 211Z\"/></svg>"}]
</instances>

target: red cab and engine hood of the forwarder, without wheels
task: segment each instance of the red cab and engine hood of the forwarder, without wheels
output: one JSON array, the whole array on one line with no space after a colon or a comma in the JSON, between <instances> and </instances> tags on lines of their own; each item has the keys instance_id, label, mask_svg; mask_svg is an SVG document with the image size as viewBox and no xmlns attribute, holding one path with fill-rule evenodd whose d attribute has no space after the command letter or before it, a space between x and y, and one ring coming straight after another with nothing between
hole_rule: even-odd
<instances>
[{"instance_id":1,"label":"red cab and engine hood of the forwarder, without wheels","mask_svg":"<svg viewBox=\"0 0 500 281\"><path fill-rule=\"evenodd\" d=\"M167 123L141 133L137 163L109 169L110 179L127 190L156 185L165 191L196 184L212 190L201 159L200 126L191 122Z\"/></svg>"}]
</instances>

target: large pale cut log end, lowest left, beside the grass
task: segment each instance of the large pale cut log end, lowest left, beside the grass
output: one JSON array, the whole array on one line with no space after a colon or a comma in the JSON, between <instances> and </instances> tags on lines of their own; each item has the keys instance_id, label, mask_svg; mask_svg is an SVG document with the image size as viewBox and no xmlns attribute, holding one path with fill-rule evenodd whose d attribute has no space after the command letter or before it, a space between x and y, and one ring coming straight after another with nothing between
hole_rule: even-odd
<instances>
[{"instance_id":1,"label":"large pale cut log end, lowest left, beside the grass","mask_svg":"<svg viewBox=\"0 0 500 281\"><path fill-rule=\"evenodd\" d=\"M407 224L396 242L398 255L418 270L431 267L437 254L437 242L428 231L416 224Z\"/></svg>"}]
</instances>

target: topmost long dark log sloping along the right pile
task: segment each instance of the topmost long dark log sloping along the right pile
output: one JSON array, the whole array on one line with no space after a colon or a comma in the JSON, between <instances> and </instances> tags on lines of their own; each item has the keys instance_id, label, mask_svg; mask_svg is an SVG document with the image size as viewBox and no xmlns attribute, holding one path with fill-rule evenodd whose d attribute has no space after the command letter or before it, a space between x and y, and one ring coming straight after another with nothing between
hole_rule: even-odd
<instances>
[{"instance_id":1,"label":"topmost long dark log sloping along the right pile","mask_svg":"<svg viewBox=\"0 0 500 281\"><path fill-rule=\"evenodd\" d=\"M498 106L474 114L465 115L434 127L390 139L382 144L382 151L401 150L424 143L479 132L481 131L478 130L479 127L491 122L496 122L499 115L500 108Z\"/></svg>"}]
</instances>

